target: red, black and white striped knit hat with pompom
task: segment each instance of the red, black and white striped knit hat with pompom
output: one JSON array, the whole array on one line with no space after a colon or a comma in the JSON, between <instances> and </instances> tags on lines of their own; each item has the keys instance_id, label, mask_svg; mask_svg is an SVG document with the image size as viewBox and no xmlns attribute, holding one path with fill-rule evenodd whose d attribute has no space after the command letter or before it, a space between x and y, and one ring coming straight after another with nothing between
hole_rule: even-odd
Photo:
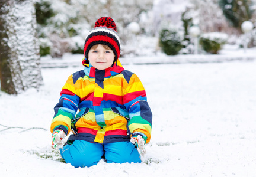
<instances>
[{"instance_id":1,"label":"red, black and white striped knit hat with pompom","mask_svg":"<svg viewBox=\"0 0 256 177\"><path fill-rule=\"evenodd\" d=\"M94 29L92 29L85 38L84 55L85 59L82 64L88 64L88 53L93 45L103 44L113 50L117 61L120 55L120 39L116 31L116 24L111 17L101 17L95 22Z\"/></svg>"}]
</instances>

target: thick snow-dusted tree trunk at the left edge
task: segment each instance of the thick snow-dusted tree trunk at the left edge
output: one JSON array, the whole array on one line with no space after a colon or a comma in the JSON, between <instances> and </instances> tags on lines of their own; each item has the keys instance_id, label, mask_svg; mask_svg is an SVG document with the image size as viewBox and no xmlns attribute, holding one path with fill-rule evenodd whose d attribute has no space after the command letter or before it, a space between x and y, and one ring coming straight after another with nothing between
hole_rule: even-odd
<instances>
[{"instance_id":1,"label":"thick snow-dusted tree trunk at the left edge","mask_svg":"<svg viewBox=\"0 0 256 177\"><path fill-rule=\"evenodd\" d=\"M1 90L18 94L31 87L39 89L39 44L33 1L0 0Z\"/></svg>"}]
</instances>

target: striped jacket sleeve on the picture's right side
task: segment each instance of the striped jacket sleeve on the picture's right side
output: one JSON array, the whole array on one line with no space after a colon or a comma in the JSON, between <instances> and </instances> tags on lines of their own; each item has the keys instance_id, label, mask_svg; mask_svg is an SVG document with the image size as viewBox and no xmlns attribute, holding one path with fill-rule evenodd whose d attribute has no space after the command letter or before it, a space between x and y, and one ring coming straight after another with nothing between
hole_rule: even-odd
<instances>
[{"instance_id":1,"label":"striped jacket sleeve on the picture's right side","mask_svg":"<svg viewBox=\"0 0 256 177\"><path fill-rule=\"evenodd\" d=\"M124 93L124 106L129 111L128 127L131 133L140 132L151 139L152 112L146 99L146 91L136 76L132 74Z\"/></svg>"}]
</instances>

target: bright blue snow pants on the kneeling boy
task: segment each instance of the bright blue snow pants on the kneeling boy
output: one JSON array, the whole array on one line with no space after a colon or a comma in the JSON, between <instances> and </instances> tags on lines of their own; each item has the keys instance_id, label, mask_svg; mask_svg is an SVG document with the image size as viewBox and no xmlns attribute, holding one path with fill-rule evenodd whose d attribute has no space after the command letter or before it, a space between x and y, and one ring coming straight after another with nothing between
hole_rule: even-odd
<instances>
[{"instance_id":1,"label":"bright blue snow pants on the kneeling boy","mask_svg":"<svg viewBox=\"0 0 256 177\"><path fill-rule=\"evenodd\" d=\"M72 166L89 167L97 165L103 155L107 163L141 163L140 154L130 142L90 143L75 140L72 145L65 145L60 149L62 158Z\"/></svg>"}]
</instances>

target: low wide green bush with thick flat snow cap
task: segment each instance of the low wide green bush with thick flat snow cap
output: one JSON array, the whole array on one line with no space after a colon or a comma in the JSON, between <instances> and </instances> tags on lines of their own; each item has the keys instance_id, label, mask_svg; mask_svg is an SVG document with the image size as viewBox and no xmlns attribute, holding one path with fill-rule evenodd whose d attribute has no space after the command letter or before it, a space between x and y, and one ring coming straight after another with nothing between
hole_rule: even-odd
<instances>
[{"instance_id":1,"label":"low wide green bush with thick flat snow cap","mask_svg":"<svg viewBox=\"0 0 256 177\"><path fill-rule=\"evenodd\" d=\"M201 35L199 43L204 51L217 54L228 40L228 35L222 32L210 32Z\"/></svg>"}]
</instances>

